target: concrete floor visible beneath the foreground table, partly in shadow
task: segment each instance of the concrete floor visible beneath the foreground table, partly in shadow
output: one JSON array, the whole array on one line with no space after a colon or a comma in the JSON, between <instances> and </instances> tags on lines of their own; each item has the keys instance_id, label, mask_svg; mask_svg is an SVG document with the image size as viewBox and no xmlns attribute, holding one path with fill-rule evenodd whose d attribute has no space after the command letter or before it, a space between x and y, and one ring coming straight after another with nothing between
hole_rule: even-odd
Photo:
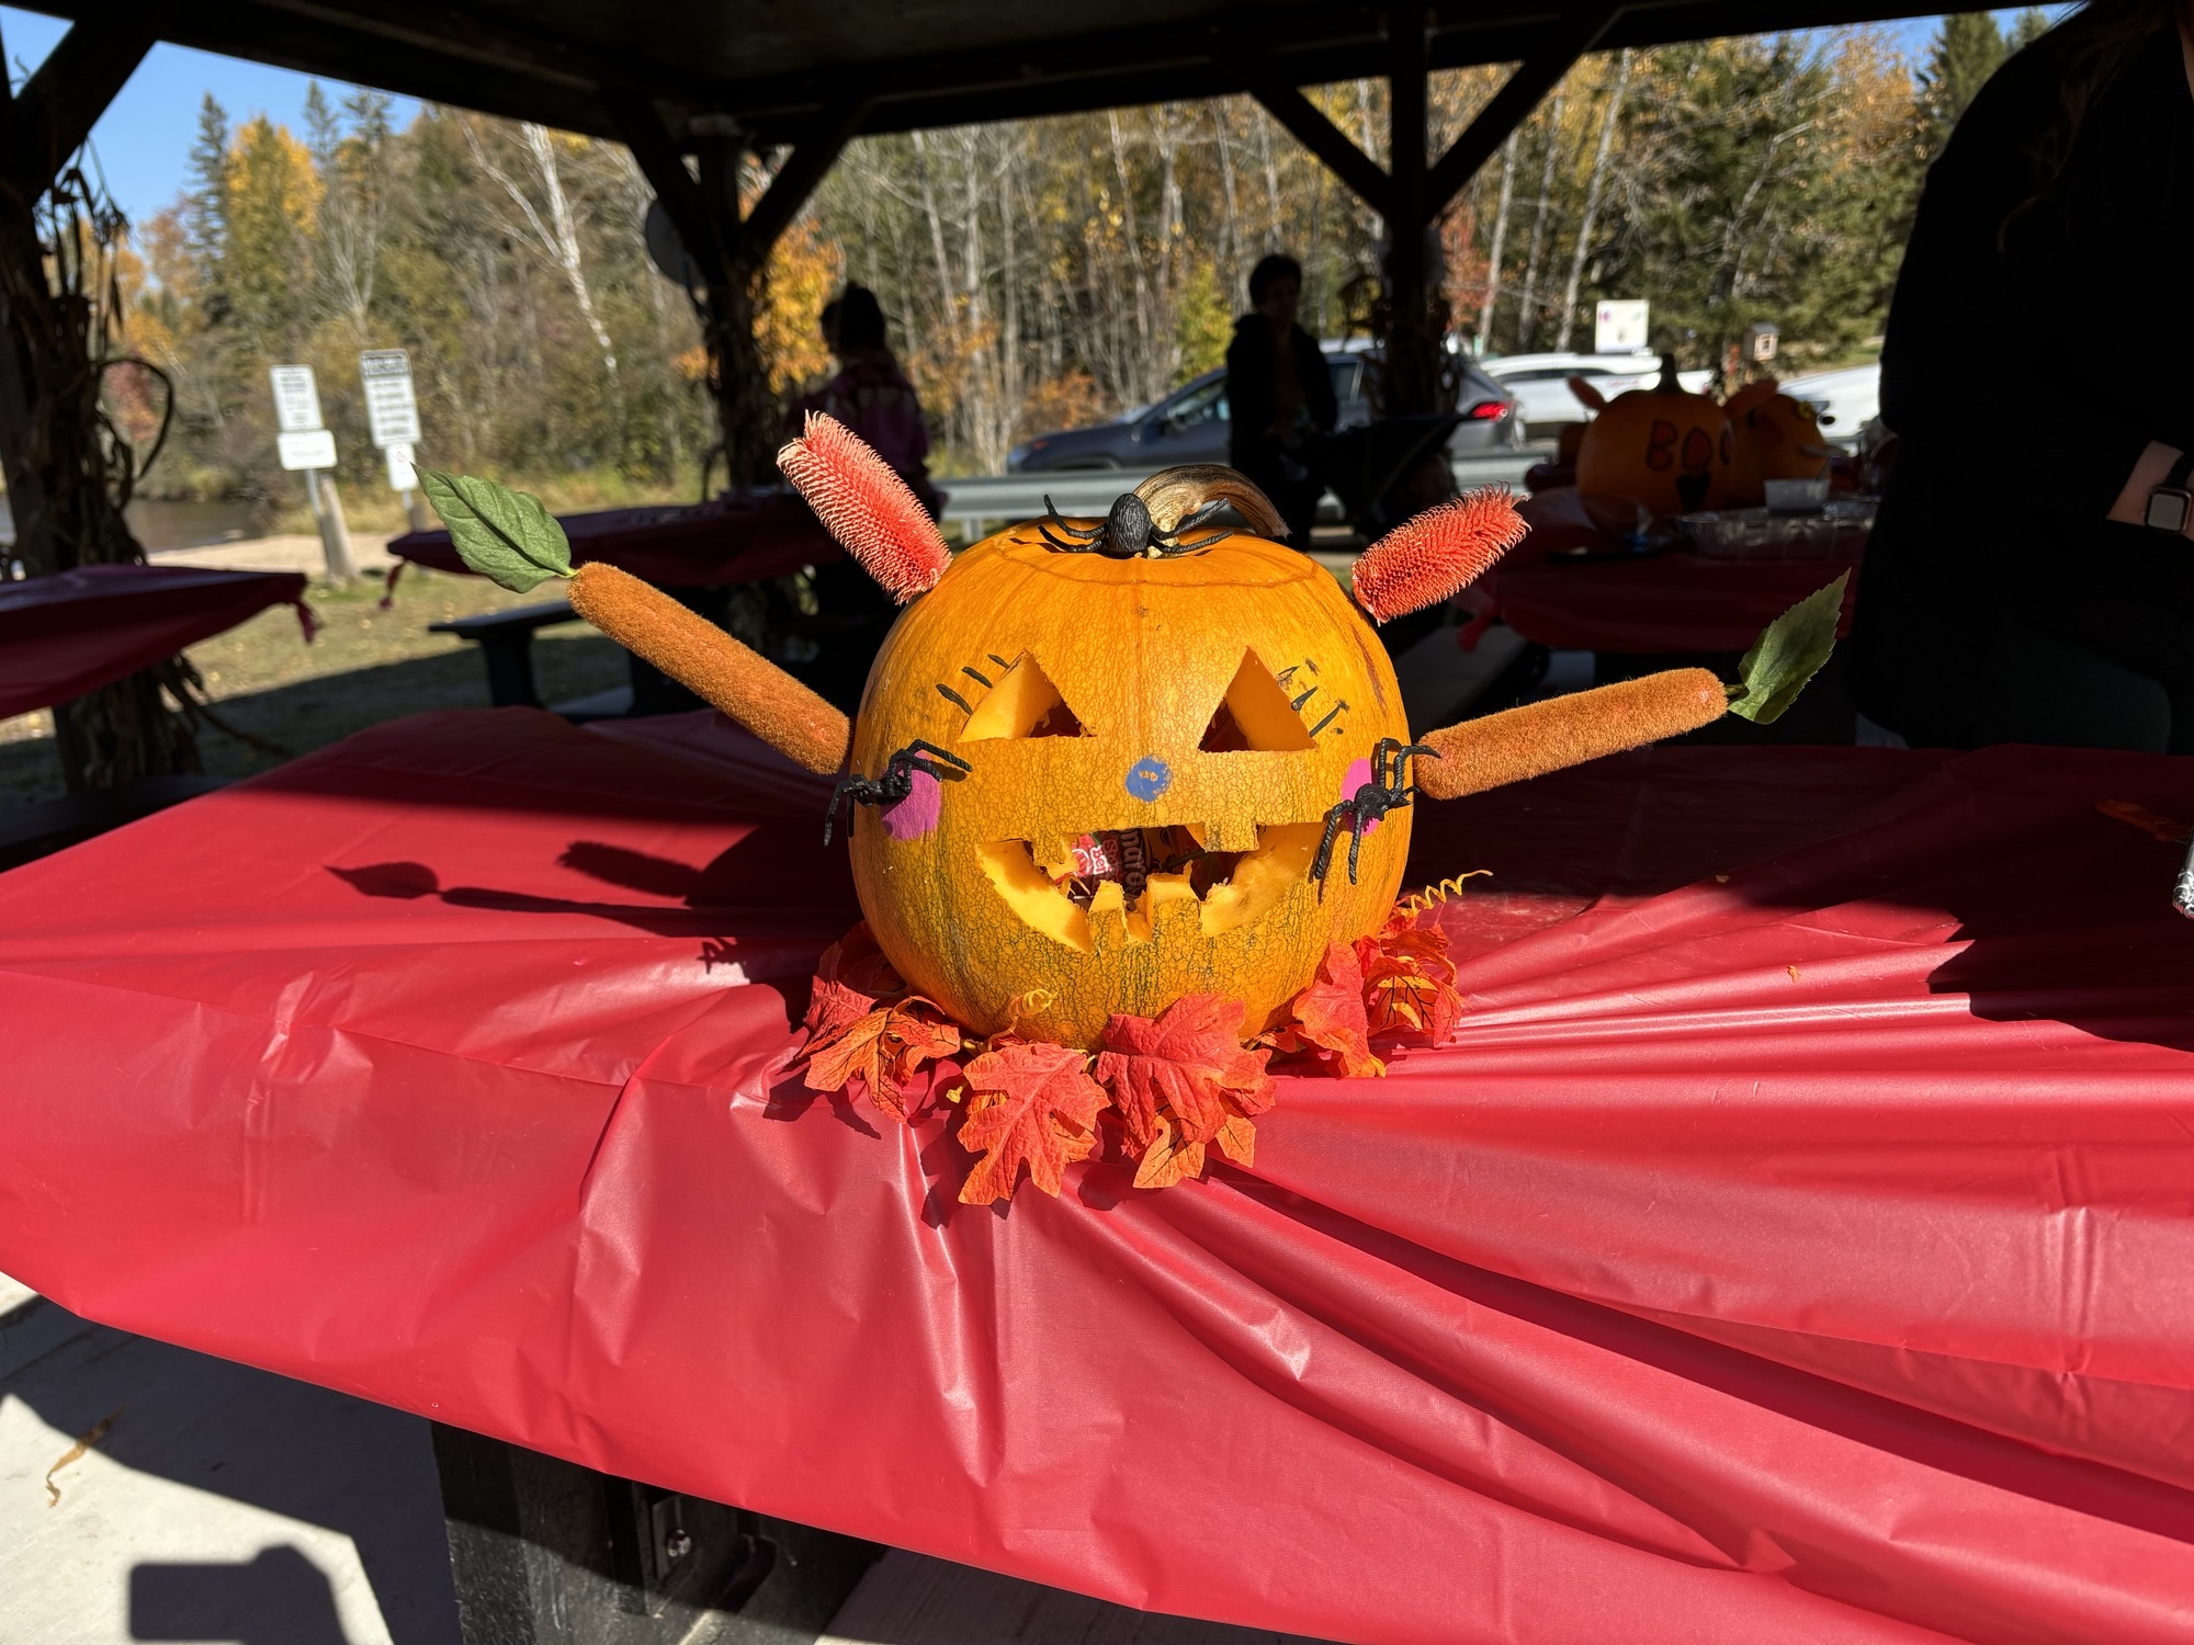
<instances>
[{"instance_id":1,"label":"concrete floor visible beneath the foreground table, partly in shadow","mask_svg":"<svg viewBox=\"0 0 2194 1645\"><path fill-rule=\"evenodd\" d=\"M821 1645L1283 1638L895 1551ZM127 1641L461 1645L428 1426L0 1274L0 1645Z\"/></svg>"}]
</instances>

